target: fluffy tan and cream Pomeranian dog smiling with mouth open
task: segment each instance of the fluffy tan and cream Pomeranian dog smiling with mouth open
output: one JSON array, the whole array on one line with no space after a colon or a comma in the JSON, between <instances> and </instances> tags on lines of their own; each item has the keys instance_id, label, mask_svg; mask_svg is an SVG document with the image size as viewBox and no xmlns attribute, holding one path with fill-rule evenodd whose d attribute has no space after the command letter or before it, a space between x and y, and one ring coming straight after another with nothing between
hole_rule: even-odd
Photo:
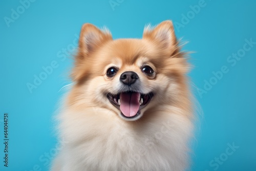
<instances>
[{"instance_id":1,"label":"fluffy tan and cream Pomeranian dog smiling with mouth open","mask_svg":"<svg viewBox=\"0 0 256 171\"><path fill-rule=\"evenodd\" d=\"M189 64L166 20L142 39L84 24L61 107L53 171L185 170L193 135Z\"/></svg>"}]
</instances>

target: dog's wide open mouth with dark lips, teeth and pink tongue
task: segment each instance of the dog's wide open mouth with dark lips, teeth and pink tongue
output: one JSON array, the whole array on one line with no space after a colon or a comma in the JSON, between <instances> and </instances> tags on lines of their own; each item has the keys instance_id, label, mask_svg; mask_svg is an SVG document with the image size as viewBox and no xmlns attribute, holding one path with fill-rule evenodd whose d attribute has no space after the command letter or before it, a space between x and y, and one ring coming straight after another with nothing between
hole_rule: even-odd
<instances>
[{"instance_id":1,"label":"dog's wide open mouth with dark lips, teeth and pink tongue","mask_svg":"<svg viewBox=\"0 0 256 171\"><path fill-rule=\"evenodd\" d=\"M154 96L153 93L142 94L138 92L123 92L113 95L107 94L110 102L121 111L121 115L125 118L136 118Z\"/></svg>"}]
</instances>

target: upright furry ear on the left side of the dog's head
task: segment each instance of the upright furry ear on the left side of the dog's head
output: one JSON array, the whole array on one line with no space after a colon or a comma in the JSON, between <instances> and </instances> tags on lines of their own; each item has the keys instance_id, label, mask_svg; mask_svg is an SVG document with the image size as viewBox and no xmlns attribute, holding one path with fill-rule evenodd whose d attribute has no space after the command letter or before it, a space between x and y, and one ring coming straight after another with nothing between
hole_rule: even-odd
<instances>
[{"instance_id":1,"label":"upright furry ear on the left side of the dog's head","mask_svg":"<svg viewBox=\"0 0 256 171\"><path fill-rule=\"evenodd\" d=\"M81 29L79 49L84 55L88 55L108 40L112 40L112 35L108 29L100 30L94 25L87 23Z\"/></svg>"}]
</instances>

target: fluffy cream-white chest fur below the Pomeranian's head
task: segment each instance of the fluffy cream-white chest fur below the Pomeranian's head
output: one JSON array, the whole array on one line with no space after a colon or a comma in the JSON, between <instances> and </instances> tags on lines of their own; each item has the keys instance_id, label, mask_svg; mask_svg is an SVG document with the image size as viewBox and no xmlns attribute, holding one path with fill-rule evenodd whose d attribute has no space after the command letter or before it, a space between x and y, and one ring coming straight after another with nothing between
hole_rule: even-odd
<instances>
[{"instance_id":1,"label":"fluffy cream-white chest fur below the Pomeranian's head","mask_svg":"<svg viewBox=\"0 0 256 171\"><path fill-rule=\"evenodd\" d=\"M62 113L62 138L68 143L52 170L187 168L192 125L183 117L183 111L169 106L142 125L127 124L111 115L111 111L94 108Z\"/></svg>"}]
</instances>

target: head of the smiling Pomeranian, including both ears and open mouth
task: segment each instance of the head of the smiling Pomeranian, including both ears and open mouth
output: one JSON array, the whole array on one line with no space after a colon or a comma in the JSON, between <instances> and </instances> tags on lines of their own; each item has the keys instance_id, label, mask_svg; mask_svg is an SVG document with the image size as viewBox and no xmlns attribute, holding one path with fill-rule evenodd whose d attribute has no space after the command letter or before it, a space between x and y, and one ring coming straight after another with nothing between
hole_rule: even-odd
<instances>
[{"instance_id":1,"label":"head of the smiling Pomeranian, including both ears and open mouth","mask_svg":"<svg viewBox=\"0 0 256 171\"><path fill-rule=\"evenodd\" d=\"M117 40L109 31L85 24L69 103L108 109L134 121L149 109L164 110L182 101L187 70L170 21L145 28L142 39Z\"/></svg>"}]
</instances>

